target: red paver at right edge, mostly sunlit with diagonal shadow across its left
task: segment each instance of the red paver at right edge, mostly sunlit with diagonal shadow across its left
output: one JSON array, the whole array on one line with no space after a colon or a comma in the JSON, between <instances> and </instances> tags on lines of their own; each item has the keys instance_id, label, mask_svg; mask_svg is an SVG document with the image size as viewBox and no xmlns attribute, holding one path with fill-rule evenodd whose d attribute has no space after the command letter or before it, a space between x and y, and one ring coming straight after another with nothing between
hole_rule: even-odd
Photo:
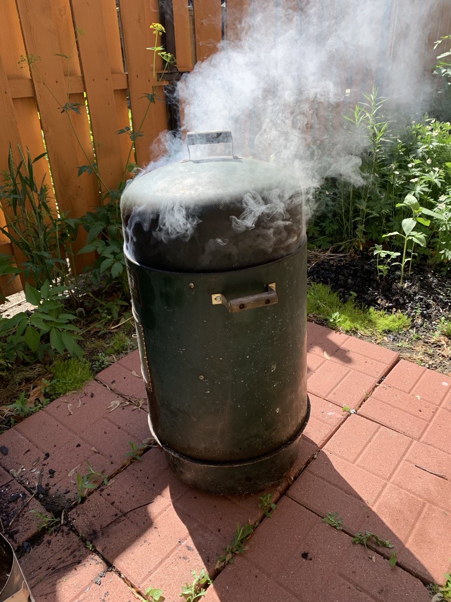
<instances>
[{"instance_id":1,"label":"red paver at right edge, mostly sunlit with diagonal shadow across its left","mask_svg":"<svg viewBox=\"0 0 451 602\"><path fill-rule=\"evenodd\" d=\"M451 456L353 415L287 495L324 517L338 512L349 533L376 533L399 562L425 580L449 572ZM390 556L390 550L381 553Z\"/></svg>"}]
</instances>

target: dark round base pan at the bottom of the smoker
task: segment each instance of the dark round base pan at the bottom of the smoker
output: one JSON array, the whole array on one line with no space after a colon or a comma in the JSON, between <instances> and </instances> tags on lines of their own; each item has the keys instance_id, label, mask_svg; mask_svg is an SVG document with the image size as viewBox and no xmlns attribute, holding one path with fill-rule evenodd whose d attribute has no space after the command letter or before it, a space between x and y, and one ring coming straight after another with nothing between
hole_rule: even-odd
<instances>
[{"instance_id":1,"label":"dark round base pan at the bottom of the smoker","mask_svg":"<svg viewBox=\"0 0 451 602\"><path fill-rule=\"evenodd\" d=\"M214 494L241 495L260 491L283 479L298 457L301 435L309 417L310 399L307 396L307 415L296 435L276 450L250 460L208 462L183 456L164 442L158 442L173 473L187 485ZM148 420L153 432L150 416Z\"/></svg>"}]
</instances>

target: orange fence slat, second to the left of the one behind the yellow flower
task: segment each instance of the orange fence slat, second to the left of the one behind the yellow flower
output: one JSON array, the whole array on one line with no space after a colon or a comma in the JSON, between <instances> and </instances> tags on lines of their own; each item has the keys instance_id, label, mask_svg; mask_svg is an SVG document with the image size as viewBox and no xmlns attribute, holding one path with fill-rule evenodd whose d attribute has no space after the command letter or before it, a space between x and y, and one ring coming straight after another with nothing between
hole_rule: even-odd
<instances>
[{"instance_id":1,"label":"orange fence slat, second to the left of the one behind the yellow flower","mask_svg":"<svg viewBox=\"0 0 451 602\"><path fill-rule=\"evenodd\" d=\"M28 55L41 57L37 76L31 70L42 129L52 178L60 211L69 212L70 217L80 217L99 203L97 181L94 175L84 173L78 177L77 167L88 163L85 153L93 161L90 129L81 94L67 98L66 60L58 54L71 55L69 74L79 75L75 33L69 0L17 0L22 23L25 48ZM57 35L55 35L55 32ZM49 86L51 92L45 87ZM55 98L54 98L55 96ZM69 111L71 122L61 107L69 100L78 103L80 114ZM72 125L71 125L72 123ZM80 144L73 133L75 130ZM84 245L81 232L75 243L75 251ZM87 255L79 255L78 267L91 261Z\"/></svg>"}]
</instances>

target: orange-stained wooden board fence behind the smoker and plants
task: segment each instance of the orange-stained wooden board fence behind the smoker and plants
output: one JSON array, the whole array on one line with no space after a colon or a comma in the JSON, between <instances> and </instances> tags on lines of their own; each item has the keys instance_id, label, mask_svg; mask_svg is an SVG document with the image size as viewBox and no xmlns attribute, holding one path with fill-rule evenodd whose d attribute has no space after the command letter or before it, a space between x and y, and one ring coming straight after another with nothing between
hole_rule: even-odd
<instances>
[{"instance_id":1,"label":"orange-stained wooden board fence behind the smoker and plants","mask_svg":"<svg viewBox=\"0 0 451 602\"><path fill-rule=\"evenodd\" d=\"M36 164L37 179L46 175L52 184L58 210L79 217L100 203L95 175L78 176L78 167L95 161L102 181L115 188L121 180L130 149L126 135L117 131L138 128L147 108L144 95L152 91L154 37L149 25L166 26L165 45L177 59L177 73L163 85L193 69L196 61L216 51L222 37L234 39L237 24L257 2L276 6L281 0L2 0L0 19L0 170L7 169L8 147L19 160L17 144L28 147L32 157L47 152ZM296 0L290 0L293 5ZM310 0L313 2L314 0ZM316 1L316 0L315 0ZM339 0L336 0L339 3ZM424 0L411 0L412 5ZM299 6L308 0L299 0ZM321 1L318 0L318 4ZM385 52L393 52L397 0L387 24ZM424 66L434 64L434 40L451 31L451 3L438 0L428 20ZM402 51L402 43L399 51ZM31 68L20 57L36 59ZM70 57L70 58L67 58ZM161 64L158 66L161 69ZM287 65L289 67L289 64ZM353 88L360 94L356 76ZM349 87L349 83L347 84ZM354 92L354 90L353 90ZM352 96L355 96L352 94ZM88 111L86 108L88 105ZM62 107L73 106L70 119ZM129 110L131 117L129 118ZM131 119L131 123L130 123ZM159 132L174 125L165 102L157 102L147 114L143 136L137 138L131 160L144 164L152 159L152 142ZM91 140L94 140L94 148ZM55 203L55 201L52 201ZM8 211L6 206L4 211ZM0 225L5 214L0 208ZM75 250L84 245L81 234ZM24 260L0 232L0 253ZM80 265L85 261L79 255ZM6 284L0 276L0 292L11 294L23 286L19 278Z\"/></svg>"}]
</instances>

